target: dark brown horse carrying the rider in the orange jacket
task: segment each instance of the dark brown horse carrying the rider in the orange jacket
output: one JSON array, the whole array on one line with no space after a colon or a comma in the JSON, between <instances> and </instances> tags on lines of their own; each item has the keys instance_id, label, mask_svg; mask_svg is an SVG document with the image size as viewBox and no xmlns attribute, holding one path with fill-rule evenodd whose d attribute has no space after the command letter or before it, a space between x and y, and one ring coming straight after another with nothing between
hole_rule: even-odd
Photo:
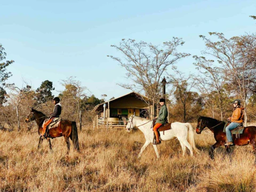
<instances>
[{"instance_id":1,"label":"dark brown horse carrying the rider in the orange jacket","mask_svg":"<svg viewBox=\"0 0 256 192\"><path fill-rule=\"evenodd\" d=\"M218 121L217 119L213 119L210 117L199 117L196 127L196 133L201 134L205 127L208 127L213 134L216 140L213 146L209 151L209 155L211 158L214 158L213 151L215 148L220 146L224 146L227 140L226 133L223 132L225 126L225 122ZM248 126L244 128L243 134L240 134L238 138L236 138L235 134L233 134L233 142L237 146L244 146L248 145L249 143L252 145L254 155L256 156L256 127L255 126ZM230 153L230 147L225 146L228 153ZM255 159L256 163L256 159Z\"/></svg>"}]
</instances>

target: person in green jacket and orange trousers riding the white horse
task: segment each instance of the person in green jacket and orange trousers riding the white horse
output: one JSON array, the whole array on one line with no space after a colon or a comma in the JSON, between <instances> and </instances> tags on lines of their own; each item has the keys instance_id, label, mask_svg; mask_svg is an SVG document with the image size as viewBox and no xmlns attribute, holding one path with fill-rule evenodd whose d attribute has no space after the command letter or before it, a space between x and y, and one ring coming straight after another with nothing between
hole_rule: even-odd
<instances>
[{"instance_id":1,"label":"person in green jacket and orange trousers riding the white horse","mask_svg":"<svg viewBox=\"0 0 256 192\"><path fill-rule=\"evenodd\" d=\"M168 116L167 108L165 105L165 99L160 99L159 104L162 107L159 111L159 116L157 117L156 124L153 128L153 131L156 135L156 143L153 143L155 145L158 145L161 143L161 141L159 140L159 133L158 133L157 129L159 129L159 127L161 127L161 125L163 125L167 121L167 116Z\"/></svg>"}]
</instances>

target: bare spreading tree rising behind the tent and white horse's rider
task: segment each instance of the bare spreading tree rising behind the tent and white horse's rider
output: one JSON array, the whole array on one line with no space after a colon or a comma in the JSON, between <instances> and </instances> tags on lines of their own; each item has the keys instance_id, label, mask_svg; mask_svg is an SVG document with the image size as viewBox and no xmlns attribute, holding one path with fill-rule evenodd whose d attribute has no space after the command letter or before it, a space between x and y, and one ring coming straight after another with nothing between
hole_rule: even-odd
<instances>
[{"instance_id":1,"label":"bare spreading tree rising behind the tent and white horse's rider","mask_svg":"<svg viewBox=\"0 0 256 192\"><path fill-rule=\"evenodd\" d=\"M163 46L155 46L146 42L135 42L133 39L122 39L118 45L111 45L120 51L124 58L109 56L124 67L127 78L131 82L119 84L125 89L143 93L148 99L141 97L149 106L155 106L160 97L161 81L169 66L182 58L188 57L188 53L179 53L177 48L185 42L181 38L173 37L172 41L164 42ZM155 107L153 107L155 114ZM151 117L152 118L152 117Z\"/></svg>"}]
</instances>

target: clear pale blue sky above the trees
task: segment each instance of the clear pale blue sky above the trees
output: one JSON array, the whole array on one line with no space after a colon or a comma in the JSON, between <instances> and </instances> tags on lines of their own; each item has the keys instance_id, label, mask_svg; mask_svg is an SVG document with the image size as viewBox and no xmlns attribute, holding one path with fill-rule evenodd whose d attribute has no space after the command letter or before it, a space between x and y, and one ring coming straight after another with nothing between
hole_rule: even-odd
<instances>
[{"instance_id":1,"label":"clear pale blue sky above the trees","mask_svg":"<svg viewBox=\"0 0 256 192\"><path fill-rule=\"evenodd\" d=\"M76 76L90 92L107 99L129 93L125 70L107 55L122 38L160 45L174 37L186 43L178 51L201 55L199 35L217 31L226 37L254 33L256 1L2 1L0 43L13 76L37 89L53 82L57 95L61 79ZM195 72L193 58L177 63L183 73ZM170 71L171 72L171 71Z\"/></svg>"}]
</instances>

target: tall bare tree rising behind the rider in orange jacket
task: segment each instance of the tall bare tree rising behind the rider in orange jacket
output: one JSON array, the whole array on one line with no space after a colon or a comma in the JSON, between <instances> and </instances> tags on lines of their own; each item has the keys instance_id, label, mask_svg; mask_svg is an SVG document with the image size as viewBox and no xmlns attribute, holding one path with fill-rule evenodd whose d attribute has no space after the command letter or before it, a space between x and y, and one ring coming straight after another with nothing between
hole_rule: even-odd
<instances>
[{"instance_id":1,"label":"tall bare tree rising behind the rider in orange jacket","mask_svg":"<svg viewBox=\"0 0 256 192\"><path fill-rule=\"evenodd\" d=\"M244 122L247 124L246 103L249 98L250 86L255 79L255 59L248 57L249 49L247 49L247 42L251 42L253 38L248 35L241 37L225 38L222 33L209 33L218 38L217 42L210 38L200 36L203 38L206 50L204 54L209 54L216 58L220 63L226 80L233 85L234 92L242 99L244 110ZM255 42L252 43L251 49L255 49Z\"/></svg>"}]
</instances>

